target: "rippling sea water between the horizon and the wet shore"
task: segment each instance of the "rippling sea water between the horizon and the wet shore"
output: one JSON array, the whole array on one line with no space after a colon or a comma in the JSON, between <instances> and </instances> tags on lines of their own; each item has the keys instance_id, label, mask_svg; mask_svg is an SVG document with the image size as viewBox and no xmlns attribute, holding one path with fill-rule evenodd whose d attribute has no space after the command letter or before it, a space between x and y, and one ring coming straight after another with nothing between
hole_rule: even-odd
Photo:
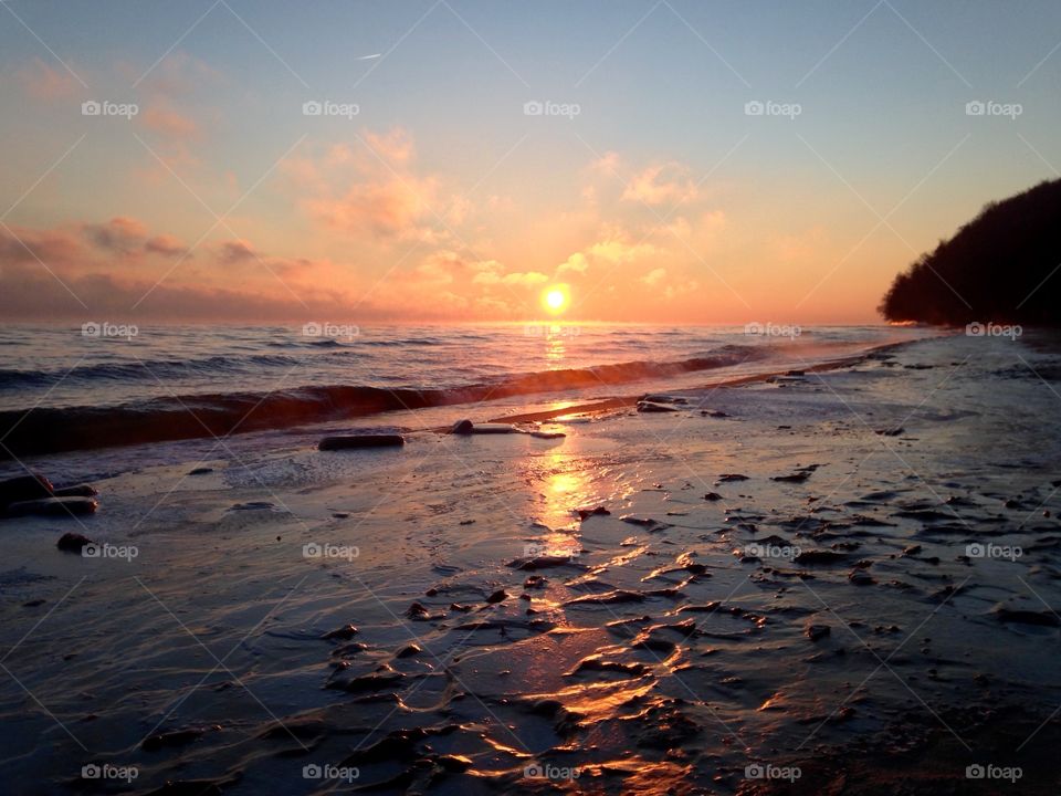
<instances>
[{"instance_id":1,"label":"rippling sea water between the horizon and the wet shore","mask_svg":"<svg viewBox=\"0 0 1061 796\"><path fill-rule=\"evenodd\" d=\"M927 334L775 324L9 326L0 332L0 433L32 454L514 396L629 395Z\"/></svg>"}]
</instances>

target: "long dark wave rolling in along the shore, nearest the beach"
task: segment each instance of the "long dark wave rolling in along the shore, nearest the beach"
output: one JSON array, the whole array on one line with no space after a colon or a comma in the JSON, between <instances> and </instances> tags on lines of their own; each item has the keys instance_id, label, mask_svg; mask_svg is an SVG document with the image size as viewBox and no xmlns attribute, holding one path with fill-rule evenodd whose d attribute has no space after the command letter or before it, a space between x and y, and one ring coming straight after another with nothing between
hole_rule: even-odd
<instances>
[{"instance_id":1,"label":"long dark wave rolling in along the shore, nearest the beach","mask_svg":"<svg viewBox=\"0 0 1061 796\"><path fill-rule=\"evenodd\" d=\"M309 386L270 392L153 398L108 407L0 411L0 439L3 439L0 455L22 457L209 436L223 437L384 411L426 409L535 392L586 389L739 365L765 355L760 348L726 345L703 356L675 362L628 362L582 369L546 370L454 388Z\"/></svg>"}]
</instances>

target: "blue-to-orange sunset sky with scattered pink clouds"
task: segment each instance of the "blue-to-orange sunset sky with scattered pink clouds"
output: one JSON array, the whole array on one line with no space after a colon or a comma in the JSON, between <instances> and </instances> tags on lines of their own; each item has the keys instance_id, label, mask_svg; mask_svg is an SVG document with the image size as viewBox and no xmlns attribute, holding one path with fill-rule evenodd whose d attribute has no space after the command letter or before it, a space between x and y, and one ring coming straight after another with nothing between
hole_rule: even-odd
<instances>
[{"instance_id":1,"label":"blue-to-orange sunset sky with scattered pink clouds","mask_svg":"<svg viewBox=\"0 0 1061 796\"><path fill-rule=\"evenodd\" d=\"M876 323L1059 78L1053 0L2 0L0 317Z\"/></svg>"}]
</instances>

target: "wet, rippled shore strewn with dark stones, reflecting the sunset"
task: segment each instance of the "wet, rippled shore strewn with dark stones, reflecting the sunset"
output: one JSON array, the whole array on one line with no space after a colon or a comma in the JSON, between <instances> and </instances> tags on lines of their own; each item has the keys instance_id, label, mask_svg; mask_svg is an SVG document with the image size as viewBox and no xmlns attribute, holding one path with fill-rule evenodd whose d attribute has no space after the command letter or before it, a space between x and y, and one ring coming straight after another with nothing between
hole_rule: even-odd
<instances>
[{"instance_id":1,"label":"wet, rippled shore strewn with dark stones, reflecting the sunset","mask_svg":"<svg viewBox=\"0 0 1061 796\"><path fill-rule=\"evenodd\" d=\"M563 439L233 438L96 478L96 515L3 524L3 779L1058 793L1059 373L950 337Z\"/></svg>"}]
</instances>

